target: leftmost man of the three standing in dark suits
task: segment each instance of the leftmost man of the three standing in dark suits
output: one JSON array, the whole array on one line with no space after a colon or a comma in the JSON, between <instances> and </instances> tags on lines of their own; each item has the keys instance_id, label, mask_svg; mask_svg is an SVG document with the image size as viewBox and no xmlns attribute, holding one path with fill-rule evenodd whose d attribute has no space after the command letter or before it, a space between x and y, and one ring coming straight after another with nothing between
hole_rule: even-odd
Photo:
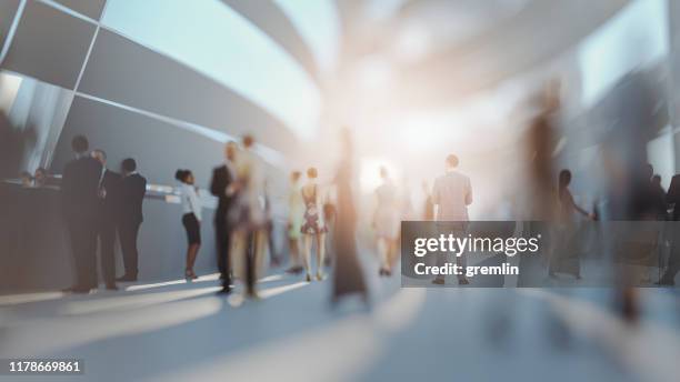
<instances>
[{"instance_id":1,"label":"leftmost man of the three standing in dark suits","mask_svg":"<svg viewBox=\"0 0 680 382\"><path fill-rule=\"evenodd\" d=\"M63 213L76 265L76 283L68 291L88 293L97 289L97 207L101 163L88 155L88 140L73 138L76 159L63 170Z\"/></svg>"}]
</instances>

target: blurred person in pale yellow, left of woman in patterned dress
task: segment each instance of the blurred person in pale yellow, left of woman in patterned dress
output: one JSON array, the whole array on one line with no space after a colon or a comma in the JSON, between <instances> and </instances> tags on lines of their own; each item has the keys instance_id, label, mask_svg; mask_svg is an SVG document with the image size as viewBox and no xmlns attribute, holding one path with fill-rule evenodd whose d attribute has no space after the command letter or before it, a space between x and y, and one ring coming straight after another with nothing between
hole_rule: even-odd
<instances>
[{"instance_id":1,"label":"blurred person in pale yellow, left of woman in patterned dress","mask_svg":"<svg viewBox=\"0 0 680 382\"><path fill-rule=\"evenodd\" d=\"M304 214L304 201L300 192L300 171L290 173L290 189L288 191L288 221L286 223L288 235L288 249L290 253L290 267L288 273L299 274L304 268L300 259L300 235L302 234L302 221Z\"/></svg>"}]
</instances>

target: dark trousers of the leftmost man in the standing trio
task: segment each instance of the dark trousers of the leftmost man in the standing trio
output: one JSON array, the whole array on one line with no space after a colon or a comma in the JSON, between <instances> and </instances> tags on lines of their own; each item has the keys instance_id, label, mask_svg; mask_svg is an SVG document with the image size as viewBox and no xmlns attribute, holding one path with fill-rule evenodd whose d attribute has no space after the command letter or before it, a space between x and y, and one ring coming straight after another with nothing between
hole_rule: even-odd
<instances>
[{"instance_id":1,"label":"dark trousers of the leftmost man in the standing trio","mask_svg":"<svg viewBox=\"0 0 680 382\"><path fill-rule=\"evenodd\" d=\"M90 217L72 217L67 221L76 286L97 288L97 221Z\"/></svg>"}]
</instances>

